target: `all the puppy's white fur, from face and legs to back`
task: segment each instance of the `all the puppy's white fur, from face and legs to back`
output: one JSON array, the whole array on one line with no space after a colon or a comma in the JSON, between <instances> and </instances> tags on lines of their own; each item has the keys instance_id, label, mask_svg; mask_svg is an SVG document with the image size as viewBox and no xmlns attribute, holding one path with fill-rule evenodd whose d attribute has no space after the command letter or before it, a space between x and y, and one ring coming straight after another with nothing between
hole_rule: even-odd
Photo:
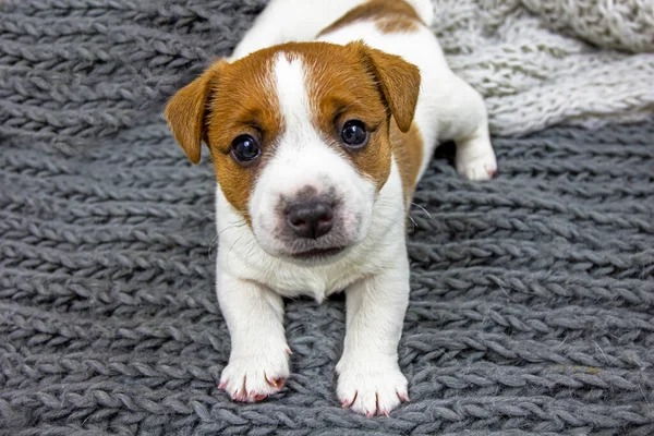
<instances>
[{"instance_id":1,"label":"all the puppy's white fur, from face and legs to back","mask_svg":"<svg viewBox=\"0 0 654 436\"><path fill-rule=\"evenodd\" d=\"M234 50L232 60L287 41L313 40L349 9L364 0L271 0ZM431 0L411 0L423 21L433 20ZM481 96L449 70L438 41L425 26L419 32L383 34L372 23L354 23L324 35L322 40L347 44L363 39L372 47L401 56L421 70L422 85L414 122L423 135L421 174L438 140L458 144L457 168L467 178L483 180L496 169ZM324 144L310 121L306 77L301 61L276 60L272 69L282 117L288 124L279 149L262 172L250 203L254 233L227 202L216 195L220 238L217 293L229 327L232 351L221 386L237 399L279 390L266 376L289 374L281 296L308 294L322 301L346 289L347 334L337 371L337 393L344 405L374 414L389 412L407 396L407 379L397 362L397 346L409 299L404 202L397 164L374 197L374 186ZM296 148L301 144L300 153ZM344 182L344 183L343 183ZM330 263L299 265L276 254L270 214L279 195L305 185L343 192L347 214L361 210L360 231L352 222L349 251ZM366 218L367 216L367 218ZM356 230L356 231L355 231ZM245 388L245 391L240 389Z\"/></svg>"}]
</instances>

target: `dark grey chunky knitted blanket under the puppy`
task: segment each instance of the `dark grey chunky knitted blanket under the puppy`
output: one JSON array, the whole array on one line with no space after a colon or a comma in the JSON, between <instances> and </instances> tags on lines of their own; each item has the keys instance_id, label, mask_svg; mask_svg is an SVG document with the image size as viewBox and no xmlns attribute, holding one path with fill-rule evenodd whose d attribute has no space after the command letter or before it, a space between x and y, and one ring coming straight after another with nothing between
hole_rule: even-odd
<instances>
[{"instance_id":1,"label":"dark grey chunky knitted blanket under the puppy","mask_svg":"<svg viewBox=\"0 0 654 436\"><path fill-rule=\"evenodd\" d=\"M411 217L411 402L342 410L343 301L290 301L292 376L217 388L213 169L161 104L263 1L0 3L0 435L654 434L654 122L445 147Z\"/></svg>"}]
</instances>

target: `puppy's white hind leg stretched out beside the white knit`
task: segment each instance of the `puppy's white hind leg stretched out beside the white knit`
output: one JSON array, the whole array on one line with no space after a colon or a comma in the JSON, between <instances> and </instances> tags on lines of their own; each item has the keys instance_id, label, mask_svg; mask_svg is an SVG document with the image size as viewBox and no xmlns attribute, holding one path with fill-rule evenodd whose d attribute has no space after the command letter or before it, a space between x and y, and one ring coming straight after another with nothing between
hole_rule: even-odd
<instances>
[{"instance_id":1,"label":"puppy's white hind leg stretched out beside the white knit","mask_svg":"<svg viewBox=\"0 0 654 436\"><path fill-rule=\"evenodd\" d=\"M497 172L488 134L484 99L472 86L452 74L445 101L441 138L457 144L457 170L469 180L488 180ZM443 137L445 136L445 137Z\"/></svg>"}]
</instances>

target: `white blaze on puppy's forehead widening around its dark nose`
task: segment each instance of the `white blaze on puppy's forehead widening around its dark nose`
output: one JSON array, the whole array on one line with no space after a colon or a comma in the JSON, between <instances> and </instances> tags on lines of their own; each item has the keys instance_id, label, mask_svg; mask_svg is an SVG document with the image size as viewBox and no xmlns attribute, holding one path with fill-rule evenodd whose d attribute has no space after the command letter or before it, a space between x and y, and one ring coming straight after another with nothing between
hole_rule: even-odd
<instances>
[{"instance_id":1,"label":"white blaze on puppy's forehead widening around its dark nose","mask_svg":"<svg viewBox=\"0 0 654 436\"><path fill-rule=\"evenodd\" d=\"M339 214L348 242L361 242L370 229L375 185L362 178L334 147L325 144L313 125L302 61L289 61L281 53L275 61L272 74L287 128L274 157L256 182L250 203L259 245L269 254L283 254L284 246L275 237L280 217L271 211L276 210L280 196L293 197L307 186L318 194L335 191L342 198Z\"/></svg>"}]
</instances>

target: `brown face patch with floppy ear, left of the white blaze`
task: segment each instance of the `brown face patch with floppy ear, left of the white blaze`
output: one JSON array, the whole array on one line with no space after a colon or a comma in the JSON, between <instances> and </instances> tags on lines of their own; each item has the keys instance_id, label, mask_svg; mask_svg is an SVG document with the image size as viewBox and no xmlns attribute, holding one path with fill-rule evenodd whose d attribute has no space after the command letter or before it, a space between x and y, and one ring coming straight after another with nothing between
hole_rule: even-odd
<instances>
[{"instance_id":1,"label":"brown face patch with floppy ear, left of the white blaze","mask_svg":"<svg viewBox=\"0 0 654 436\"><path fill-rule=\"evenodd\" d=\"M173 134L193 164L204 141L213 157L216 179L227 201L252 225L247 211L255 180L283 129L270 68L275 50L262 50L230 64L219 61L180 89L166 116ZM255 138L261 156L249 165L231 156L240 135Z\"/></svg>"}]
</instances>

